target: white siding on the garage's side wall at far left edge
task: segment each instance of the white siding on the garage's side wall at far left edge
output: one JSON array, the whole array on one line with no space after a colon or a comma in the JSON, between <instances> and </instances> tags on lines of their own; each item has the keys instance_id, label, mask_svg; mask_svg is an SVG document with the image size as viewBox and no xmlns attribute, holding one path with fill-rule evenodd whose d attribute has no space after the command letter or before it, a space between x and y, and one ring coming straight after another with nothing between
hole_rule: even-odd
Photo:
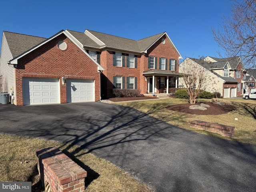
<instances>
[{"instance_id":1,"label":"white siding on the garage's side wall at far left edge","mask_svg":"<svg viewBox=\"0 0 256 192\"><path fill-rule=\"evenodd\" d=\"M0 74L3 77L3 92L11 93L11 87L14 86L14 67L7 62L12 60L12 54L3 33L1 56L0 56Z\"/></svg>"}]
</instances>

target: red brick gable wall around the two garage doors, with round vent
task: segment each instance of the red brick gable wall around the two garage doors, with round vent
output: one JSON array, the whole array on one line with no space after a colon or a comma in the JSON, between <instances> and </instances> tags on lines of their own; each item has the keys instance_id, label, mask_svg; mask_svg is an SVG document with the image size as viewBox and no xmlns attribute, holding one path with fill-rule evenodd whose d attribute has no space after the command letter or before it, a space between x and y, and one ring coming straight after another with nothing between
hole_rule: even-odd
<instances>
[{"instance_id":1,"label":"red brick gable wall around the two garage doors, with round vent","mask_svg":"<svg viewBox=\"0 0 256 192\"><path fill-rule=\"evenodd\" d=\"M57 44L63 40L66 50ZM100 99L100 74L97 65L64 34L54 38L18 60L16 73L16 104L23 105L22 77L59 78L60 103L66 103L66 84L61 77L95 80L95 101Z\"/></svg>"}]
</instances>

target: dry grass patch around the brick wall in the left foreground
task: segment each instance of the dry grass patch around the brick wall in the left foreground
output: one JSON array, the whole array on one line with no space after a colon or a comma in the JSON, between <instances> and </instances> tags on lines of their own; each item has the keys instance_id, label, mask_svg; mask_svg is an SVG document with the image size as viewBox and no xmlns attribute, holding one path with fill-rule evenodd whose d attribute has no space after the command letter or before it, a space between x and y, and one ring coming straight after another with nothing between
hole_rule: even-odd
<instances>
[{"instance_id":1,"label":"dry grass patch around the brick wall in the left foreground","mask_svg":"<svg viewBox=\"0 0 256 192\"><path fill-rule=\"evenodd\" d=\"M0 134L0 181L31 181L32 192L42 192L36 150L56 146L87 171L86 192L152 192L114 164L77 146L36 138Z\"/></svg>"}]
</instances>

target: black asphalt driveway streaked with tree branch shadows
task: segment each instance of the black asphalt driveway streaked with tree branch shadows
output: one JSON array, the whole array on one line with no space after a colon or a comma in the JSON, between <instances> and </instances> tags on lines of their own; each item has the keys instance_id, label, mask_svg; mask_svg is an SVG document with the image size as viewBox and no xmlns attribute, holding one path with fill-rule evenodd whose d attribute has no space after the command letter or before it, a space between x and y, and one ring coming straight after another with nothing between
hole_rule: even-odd
<instances>
[{"instance_id":1,"label":"black asphalt driveway streaked with tree branch shadows","mask_svg":"<svg viewBox=\"0 0 256 192\"><path fill-rule=\"evenodd\" d=\"M0 132L78 144L158 192L256 191L256 146L190 132L123 106L0 104Z\"/></svg>"}]
</instances>

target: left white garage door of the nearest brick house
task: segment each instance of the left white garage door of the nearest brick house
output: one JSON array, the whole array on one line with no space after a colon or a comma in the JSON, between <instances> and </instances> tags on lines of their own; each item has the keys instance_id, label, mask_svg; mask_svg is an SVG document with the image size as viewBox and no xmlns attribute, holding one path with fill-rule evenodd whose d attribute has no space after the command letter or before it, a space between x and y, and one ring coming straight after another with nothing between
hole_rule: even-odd
<instances>
[{"instance_id":1,"label":"left white garage door of the nearest brick house","mask_svg":"<svg viewBox=\"0 0 256 192\"><path fill-rule=\"evenodd\" d=\"M59 79L23 78L23 104L57 104L59 103Z\"/></svg>"}]
</instances>

